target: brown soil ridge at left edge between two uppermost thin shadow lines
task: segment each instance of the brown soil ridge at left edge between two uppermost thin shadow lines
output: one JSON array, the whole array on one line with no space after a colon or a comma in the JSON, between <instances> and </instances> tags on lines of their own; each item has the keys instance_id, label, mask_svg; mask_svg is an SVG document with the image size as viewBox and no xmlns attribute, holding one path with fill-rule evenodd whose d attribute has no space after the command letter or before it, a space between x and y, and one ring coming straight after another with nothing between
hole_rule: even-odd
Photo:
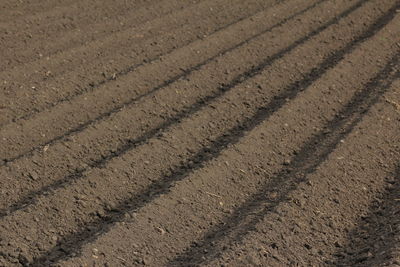
<instances>
[{"instance_id":1,"label":"brown soil ridge at left edge between two uppermost thin shadow lines","mask_svg":"<svg viewBox=\"0 0 400 267\"><path fill-rule=\"evenodd\" d=\"M297 2L304 3L309 1L303 0ZM140 66L129 75L117 81L103 84L95 91L80 95L74 98L73 101L71 100L71 102L61 103L51 110L42 112L29 120L4 126L0 130L0 136L4 140L6 147L2 151L4 154L1 156L5 161L13 161L13 159L20 158L28 151L31 151L32 146L48 145L74 132L79 132L88 125L104 120L112 114L119 112L120 109L132 106L139 99L154 94L174 82L204 75L204 72L223 65L225 63L223 60L226 60L226 58L233 58L231 60L234 60L234 52L244 50L247 54L248 62L240 66L230 66L232 70L225 70L226 67L224 67L219 70L220 78L214 77L216 84L229 81L242 72L239 69L240 67L246 66L246 69L251 69L254 63L260 61L260 57L268 55L271 50L276 51L279 49L279 43L276 38L274 42L269 41L268 43L276 46L276 48L271 47L264 52L262 48L268 48L267 44L261 44L261 47L257 47L257 45L261 41L265 41L268 36L270 37L274 33L278 33L286 22L296 23L294 19L296 15L302 15L312 7L306 8L306 10L299 8L300 11L294 11L295 14L292 14L281 22L277 22L279 19L273 16L270 16L270 20L264 19L265 15L273 14L274 12L281 14L291 8L290 5L286 4L277 6L258 14L256 18L251 18L237 25L235 24L218 34L210 36L206 40L198 41L190 46L178 49L162 59L153 62L153 64ZM248 27L257 27L259 31L256 31L254 35L253 31L248 30ZM268 28L265 29L265 27ZM240 37L234 34L236 31L242 30L247 31ZM291 37L285 43L282 43L282 45L289 43L300 34L301 32L297 33L296 36ZM248 39L241 39L246 35L249 37ZM246 51L246 45L250 42L253 43L255 48L253 51ZM200 61L200 63L196 61L182 63L181 60L183 58L191 58ZM236 62L236 65L239 64ZM222 70L225 70L225 72ZM214 72L214 70L212 71ZM217 80L218 78L219 80ZM132 84L136 88L132 88ZM110 90L111 86L113 90ZM80 110L79 116L77 116L78 114L76 114L75 110ZM52 125L52 128L47 127L49 125ZM39 132L35 133L35 129L39 130ZM65 133L66 131L67 133ZM15 146L11 148L13 144L23 145L18 148Z\"/></svg>"}]
</instances>

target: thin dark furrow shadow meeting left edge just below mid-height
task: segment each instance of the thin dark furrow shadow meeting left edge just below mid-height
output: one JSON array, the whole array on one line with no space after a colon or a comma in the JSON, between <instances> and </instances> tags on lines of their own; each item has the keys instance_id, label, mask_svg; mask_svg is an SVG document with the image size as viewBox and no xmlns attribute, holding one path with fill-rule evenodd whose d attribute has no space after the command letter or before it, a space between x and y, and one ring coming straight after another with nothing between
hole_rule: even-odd
<instances>
[{"instance_id":1,"label":"thin dark furrow shadow meeting left edge just below mid-height","mask_svg":"<svg viewBox=\"0 0 400 267\"><path fill-rule=\"evenodd\" d=\"M252 40L254 40L254 39L256 39L256 38L262 36L262 35L265 34L265 33L268 33L268 32L270 32L270 31L272 31L273 29L275 29L275 28L277 28L277 27L279 27L279 26L282 26L282 25L285 24L287 21L289 21L289 20L291 20L291 19L293 19L293 18L295 18L295 17L297 17L297 16L299 16L299 15L301 15L301 14L307 12L308 10L310 10L310 9L312 9L312 8L314 8L314 7L316 7L317 5L319 5L319 4L321 4L322 2L325 2L325 1L327 1L327 0L320 0L320 1L316 2L316 3L314 3L313 5L311 5L311 6L307 7L307 8L305 8L305 9L303 9L303 10L301 10L301 11L299 11L299 12L297 12L297 13L295 13L295 14L293 14L293 15L287 17L287 18L285 18L285 19L282 20L281 22L279 22L279 23L277 23L277 24L275 24L275 25L273 25L273 26L271 26L271 27L269 27L269 28L263 30L262 32L257 33L257 34L255 34L255 35L253 35L252 37L250 37L250 38L248 38L248 39L246 39L246 40L243 40L242 42L240 42L240 43L238 43L238 44L236 44L236 45L234 45L234 46L232 46L232 47L230 47L230 48L228 48L228 49L225 49L225 50L223 50L223 51L218 52L218 54L216 54L216 55L214 55L214 56L208 58L207 60L205 60L205 61L203 61L203 62L201 62L201 63L199 63L199 64L197 64L197 65L195 65L195 66L193 66L193 67L191 67L191 68L189 68L189 69L187 69L187 70L185 70L185 71L183 71L181 74L178 74L178 75L176 75L176 76L170 78L169 80L164 81L163 83L161 83L160 85L158 85L158 86L152 88L152 89L149 90L148 92L146 92L146 93L144 93L144 94L141 94L141 95L139 95L139 96L137 96L137 97L135 97L135 98L133 98L133 99L131 99L131 100L125 102L125 103L122 103L121 105L119 105L119 106L113 108L112 110L107 111L107 112L104 112L104 113L100 114L99 116L97 116L96 118L91 119L91 120L88 120L87 122L85 122L85 123L79 125L78 127L75 127L75 128L73 128L73 129L71 129L71 130L68 130L66 133L64 133L64 134L62 134L62 135L60 135L60 136L54 137L53 139L51 139L51 140L49 140L49 141L47 141L47 142L44 142L44 143L42 143L42 144L40 144L40 145L37 145L36 147L34 147L34 148L32 148L32 149L30 149L30 150L28 150L28 151L26 151L26 152L23 152L23 153L21 153L21 154L19 154L19 155L16 155L15 157L8 158L8 159L3 159L2 161L0 161L0 166L5 165L6 163L14 162L14 161L16 161L16 160L18 160L18 159L21 159L22 157L25 157L25 156L27 156L27 155L30 155L30 154L32 154L35 150L37 150L38 148L41 148L41 147L46 146L46 145L52 145L52 144L54 144L54 143L56 143L56 142L58 142L58 141L60 141L60 140L62 140L62 139L64 139L64 138L67 138L67 137L69 137L69 136L71 136L71 135L73 135L73 134L82 132L82 131L83 131L84 129L86 129L88 126L90 126L90 125L92 125L92 124L94 124L94 123L97 123L97 122L99 122L99 121L102 121L102 120L104 120L104 119L110 117L111 115L113 115L113 114L119 112L122 108L127 107L127 106L131 106L131 105L134 105L135 103L137 103L137 102L140 101L141 99L143 99L143 98L145 98L145 97L147 97L147 96L149 96L149 95L152 95L152 94L156 93L158 90L163 89L163 88L169 86L170 84L172 84L172 83L174 83L174 82L176 82L176 81L178 81L178 80L180 80L180 79L182 79L182 78L185 78L185 77L189 76L189 75L190 75L191 73L193 73L194 71L199 70L201 67L207 65L208 63L214 61L215 59L220 58L220 57L226 55L227 53L229 53L229 52L231 52L231 51L233 51L233 50L235 50L235 49L237 49L237 48L239 48L239 47L241 47L241 46L246 45L246 44L249 43L250 41L252 41ZM358 6L361 6L361 4L364 3L364 2L366 2L366 1L368 1L368 0L361 0L360 3L358 4ZM253 14L253 15L254 15L254 14ZM248 16L248 17L251 17L251 16ZM236 24L236 23L238 23L238 22L240 22L240 21L242 21L242 20L244 20L244 19L246 19L246 18L248 18L248 17L242 18L242 19L240 19L239 21L235 21L235 22L233 22L233 23L231 23L231 24L225 25L224 27L219 28L219 29L218 29L217 31L215 31L215 32L222 31L222 30L228 28L229 26L231 26L231 25L233 25L233 24ZM211 34L214 34L215 32L213 32L213 33L211 33ZM188 45L188 44L185 44L185 45ZM184 46L185 46L185 45L184 45ZM165 56L165 55L167 55L167 54L169 54L169 53L172 53L172 52L175 51L175 50L176 50L176 48L172 49L171 51L169 51L169 52L166 53L166 54L163 54L163 55L161 55L161 56L156 56L155 58L150 59L148 62L150 62L150 63L151 63L151 62L155 62L155 61L159 60L161 57L163 57L163 56ZM144 64L145 64L145 63L140 63L140 64L133 65L133 66L131 66L131 67L129 67L129 68L127 68L127 69L121 71L119 74L117 74L117 76L127 75L127 74L131 73L132 71L134 71L136 68L138 68L138 67L140 67L140 66L142 66L142 65L144 65ZM251 71L249 71L249 72L251 72ZM108 79L106 79L106 80L100 81L100 82L94 84L94 85L93 85L93 88L87 89L87 90L86 90L85 92L83 92L83 93L91 92L91 91L95 90L96 88L98 88L99 86L101 86L101 85L103 85L103 84L105 84L105 83L107 83L107 82L110 82L110 81L113 80L113 79L114 79L114 78L110 77L110 78L108 78ZM82 93L82 94L83 94L83 93ZM73 96L71 96L71 97L69 97L69 98L67 98L67 99L63 99L63 100L61 100L61 101L59 101L59 102L53 104L51 107L54 107L54 106L60 104L61 102L73 101L73 99L76 98L76 97L78 97L79 95L81 95L81 94L73 95ZM50 107L50 108L51 108L51 107ZM35 114L37 114L37 112L35 112ZM33 115L34 115L34 114L31 114L31 115L29 115L29 116L33 116ZM24 118L24 119L28 119L28 117L26 117L26 118Z\"/></svg>"}]
</instances>

